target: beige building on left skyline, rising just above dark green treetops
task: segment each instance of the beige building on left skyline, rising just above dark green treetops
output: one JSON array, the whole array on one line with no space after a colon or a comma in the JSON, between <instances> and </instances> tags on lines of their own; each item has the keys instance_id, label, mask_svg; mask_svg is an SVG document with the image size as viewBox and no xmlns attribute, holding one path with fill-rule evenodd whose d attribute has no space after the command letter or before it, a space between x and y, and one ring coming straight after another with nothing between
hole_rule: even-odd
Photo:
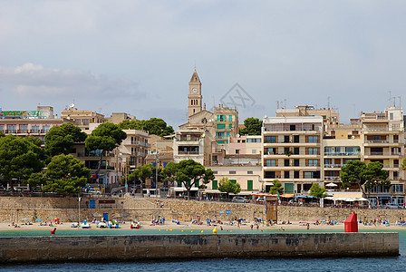
<instances>
[{"instance_id":1,"label":"beige building on left skyline, rising just above dark green treetops","mask_svg":"<svg viewBox=\"0 0 406 272\"><path fill-rule=\"evenodd\" d=\"M91 123L102 123L106 119L104 115L97 112L78 110L74 107L69 107L61 112L61 118L73 120L73 124L80 127L82 131L88 131Z\"/></svg>"}]
</instances>

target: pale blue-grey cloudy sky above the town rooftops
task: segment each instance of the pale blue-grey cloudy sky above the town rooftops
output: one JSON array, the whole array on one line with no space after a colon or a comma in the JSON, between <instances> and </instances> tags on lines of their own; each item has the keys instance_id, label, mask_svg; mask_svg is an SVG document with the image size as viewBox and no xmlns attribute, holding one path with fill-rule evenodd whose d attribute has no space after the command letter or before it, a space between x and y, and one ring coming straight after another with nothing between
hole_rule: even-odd
<instances>
[{"instance_id":1,"label":"pale blue-grey cloudy sky above the town rooftops","mask_svg":"<svg viewBox=\"0 0 406 272\"><path fill-rule=\"evenodd\" d=\"M405 14L403 0L0 0L0 108L74 102L177 128L196 65L207 108L241 122L280 102L347 123L405 104Z\"/></svg>"}]
</instances>

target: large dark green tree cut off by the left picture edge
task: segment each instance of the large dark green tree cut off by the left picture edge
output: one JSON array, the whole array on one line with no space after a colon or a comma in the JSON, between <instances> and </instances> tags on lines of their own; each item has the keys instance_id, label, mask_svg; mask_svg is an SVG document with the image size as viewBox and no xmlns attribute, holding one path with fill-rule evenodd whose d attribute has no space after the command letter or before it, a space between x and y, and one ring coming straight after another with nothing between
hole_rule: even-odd
<instances>
[{"instance_id":1,"label":"large dark green tree cut off by the left picture edge","mask_svg":"<svg viewBox=\"0 0 406 272\"><path fill-rule=\"evenodd\" d=\"M41 157L43 151L34 144L32 139L8 135L0 137L0 176L5 182L10 182L14 189L13 180L26 183L31 174L43 169Z\"/></svg>"}]
</instances>

